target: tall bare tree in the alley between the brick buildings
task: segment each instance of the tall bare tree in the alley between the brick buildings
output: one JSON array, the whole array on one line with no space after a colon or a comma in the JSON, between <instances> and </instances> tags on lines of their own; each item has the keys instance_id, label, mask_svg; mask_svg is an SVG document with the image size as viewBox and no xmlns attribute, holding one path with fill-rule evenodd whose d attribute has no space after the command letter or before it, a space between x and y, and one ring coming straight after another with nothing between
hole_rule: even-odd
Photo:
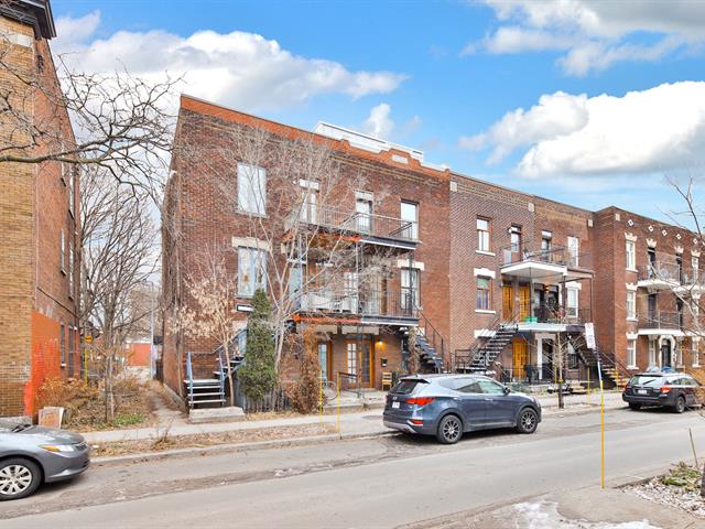
<instances>
[{"instance_id":1,"label":"tall bare tree in the alley between the brick buildings","mask_svg":"<svg viewBox=\"0 0 705 529\"><path fill-rule=\"evenodd\" d=\"M112 420L113 359L151 310L141 300L156 262L158 230L145 207L147 192L93 166L80 179L80 322L96 328L104 363L106 419Z\"/></svg>"}]
</instances>

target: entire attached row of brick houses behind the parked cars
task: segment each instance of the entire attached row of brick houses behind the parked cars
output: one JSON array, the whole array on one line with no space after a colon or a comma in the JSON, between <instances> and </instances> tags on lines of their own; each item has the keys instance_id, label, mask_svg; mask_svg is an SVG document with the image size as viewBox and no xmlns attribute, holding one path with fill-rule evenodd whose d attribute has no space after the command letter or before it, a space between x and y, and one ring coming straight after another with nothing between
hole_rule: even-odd
<instances>
[{"instance_id":1,"label":"entire attached row of brick houses behind the parked cars","mask_svg":"<svg viewBox=\"0 0 705 529\"><path fill-rule=\"evenodd\" d=\"M307 198L295 217L316 231L315 240L345 235L355 246L355 267L338 270L339 288L316 283L321 263L310 255L294 278L294 290L311 290L292 323L297 332L318 331L327 379L356 373L360 386L379 388L382 374L406 369L414 344L422 368L482 370L532 384L554 381L558 367L568 378L594 380L598 359L614 382L650 366L698 366L698 310L688 301L699 299L694 234L615 207L590 212L453 173L424 162L422 152L340 127L319 123L308 132L183 96L165 201L172 229L163 237L164 373L174 390L183 391L188 353L196 375L208 376L216 361L217 344L169 325L175 307L188 304L184 284L197 269L194 256L215 240L231 252L231 273L241 276L242 263L252 262L242 260L241 249L263 244L224 197L243 185L234 130L265 131L273 142L265 151L301 138L325 144L344 183L354 182L324 205L317 202L323 185L297 179ZM267 163L257 174L275 173ZM214 184L213 173L224 164L225 187ZM271 181L267 202L281 203ZM273 246L289 242L284 225ZM383 259L375 261L380 249ZM370 289L361 274L372 262L381 269ZM596 350L586 347L587 322L595 324Z\"/></svg>"}]
</instances>

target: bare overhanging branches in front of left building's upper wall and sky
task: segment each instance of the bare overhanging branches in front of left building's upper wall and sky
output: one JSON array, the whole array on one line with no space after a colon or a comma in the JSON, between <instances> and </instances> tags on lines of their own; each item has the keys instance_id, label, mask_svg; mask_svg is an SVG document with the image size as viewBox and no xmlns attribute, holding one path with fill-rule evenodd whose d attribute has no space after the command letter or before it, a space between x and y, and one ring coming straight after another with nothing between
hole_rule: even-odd
<instances>
[{"instance_id":1,"label":"bare overhanging branches in front of left building's upper wall and sky","mask_svg":"<svg viewBox=\"0 0 705 529\"><path fill-rule=\"evenodd\" d=\"M0 163L97 165L120 182L161 188L174 125L167 108L180 79L80 72L70 65L75 55L53 57L41 41L39 67L28 68L15 60L17 47L0 36L0 123L8 140ZM37 102L46 110L34 111Z\"/></svg>"}]
</instances>

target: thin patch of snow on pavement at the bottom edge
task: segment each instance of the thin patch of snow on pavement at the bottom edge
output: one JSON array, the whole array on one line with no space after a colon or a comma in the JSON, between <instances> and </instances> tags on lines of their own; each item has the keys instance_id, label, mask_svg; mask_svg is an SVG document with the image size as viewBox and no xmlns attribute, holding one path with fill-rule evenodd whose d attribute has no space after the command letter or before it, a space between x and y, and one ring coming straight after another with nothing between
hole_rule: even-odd
<instances>
[{"instance_id":1,"label":"thin patch of snow on pavement at the bottom edge","mask_svg":"<svg viewBox=\"0 0 705 529\"><path fill-rule=\"evenodd\" d=\"M524 503L514 506L517 529L663 529L647 520L621 523L567 520L554 501Z\"/></svg>"}]
</instances>

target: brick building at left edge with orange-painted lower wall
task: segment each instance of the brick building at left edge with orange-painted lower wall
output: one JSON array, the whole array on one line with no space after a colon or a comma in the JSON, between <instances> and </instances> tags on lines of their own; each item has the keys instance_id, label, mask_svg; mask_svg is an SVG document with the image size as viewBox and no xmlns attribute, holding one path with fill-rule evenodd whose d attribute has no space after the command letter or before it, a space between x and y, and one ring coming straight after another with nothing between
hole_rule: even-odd
<instances>
[{"instance_id":1,"label":"brick building at left edge with orange-painted lower wall","mask_svg":"<svg viewBox=\"0 0 705 529\"><path fill-rule=\"evenodd\" d=\"M3 144L34 140L19 120L70 145L68 116L51 102L61 89L48 47L55 36L50 2L3 2L0 28L1 53L11 66L0 72L0 85L20 116L1 115ZM42 89L30 91L19 76ZM36 153L56 148L42 141ZM73 166L0 164L0 415L34 413L46 377L78 373L78 230Z\"/></svg>"}]
</instances>

